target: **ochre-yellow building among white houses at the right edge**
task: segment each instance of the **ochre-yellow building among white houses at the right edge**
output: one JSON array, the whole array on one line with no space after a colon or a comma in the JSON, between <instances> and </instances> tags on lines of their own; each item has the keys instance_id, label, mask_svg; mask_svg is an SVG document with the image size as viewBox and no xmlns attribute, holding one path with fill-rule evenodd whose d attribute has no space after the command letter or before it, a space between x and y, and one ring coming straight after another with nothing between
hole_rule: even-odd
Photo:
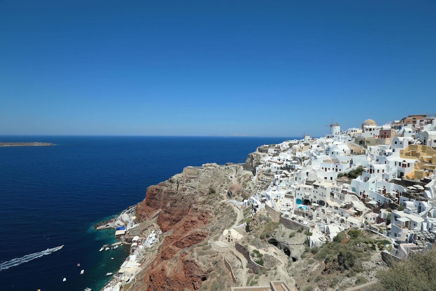
<instances>
[{"instance_id":1,"label":"ochre-yellow building among white houses at the right edge","mask_svg":"<svg viewBox=\"0 0 436 291\"><path fill-rule=\"evenodd\" d=\"M400 150L400 157L416 159L413 171L405 176L412 180L419 180L428 177L436 169L436 150L422 144L409 144Z\"/></svg>"}]
</instances>

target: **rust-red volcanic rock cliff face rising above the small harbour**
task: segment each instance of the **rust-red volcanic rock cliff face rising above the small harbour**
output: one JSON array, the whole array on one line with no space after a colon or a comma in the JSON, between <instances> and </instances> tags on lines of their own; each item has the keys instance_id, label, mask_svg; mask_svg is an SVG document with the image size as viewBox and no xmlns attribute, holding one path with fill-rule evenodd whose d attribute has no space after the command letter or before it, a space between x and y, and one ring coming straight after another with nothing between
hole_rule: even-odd
<instances>
[{"instance_id":1,"label":"rust-red volcanic rock cliff face rising above the small harbour","mask_svg":"<svg viewBox=\"0 0 436 291\"><path fill-rule=\"evenodd\" d=\"M146 290L196 290L211 272L209 267L201 267L190 259L186 252L180 252L208 237L208 232L201 229L208 224L208 214L196 205L198 193L177 191L178 188L177 181L171 179L150 186L146 199L136 206L136 217L140 220L159 213L157 224L164 233L160 252L143 276ZM171 260L174 257L178 260Z\"/></svg>"}]
</instances>

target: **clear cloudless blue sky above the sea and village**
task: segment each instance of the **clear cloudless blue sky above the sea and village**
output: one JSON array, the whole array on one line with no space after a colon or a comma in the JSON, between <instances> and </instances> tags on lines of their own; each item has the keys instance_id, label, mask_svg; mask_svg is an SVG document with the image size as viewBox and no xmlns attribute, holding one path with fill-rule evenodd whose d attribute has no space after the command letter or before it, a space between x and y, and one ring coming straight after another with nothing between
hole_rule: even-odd
<instances>
[{"instance_id":1,"label":"clear cloudless blue sky above the sea and village","mask_svg":"<svg viewBox=\"0 0 436 291\"><path fill-rule=\"evenodd\" d=\"M436 113L436 1L1 1L0 134L313 136Z\"/></svg>"}]
</instances>

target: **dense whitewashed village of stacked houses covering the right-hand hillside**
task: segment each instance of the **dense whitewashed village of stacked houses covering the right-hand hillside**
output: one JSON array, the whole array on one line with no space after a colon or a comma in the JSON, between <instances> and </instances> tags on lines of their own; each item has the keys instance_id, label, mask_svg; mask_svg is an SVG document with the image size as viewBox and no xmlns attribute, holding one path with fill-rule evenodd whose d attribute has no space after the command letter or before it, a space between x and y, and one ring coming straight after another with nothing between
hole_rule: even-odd
<instances>
[{"instance_id":1,"label":"dense whitewashed village of stacked houses covering the right-hand hillside","mask_svg":"<svg viewBox=\"0 0 436 291\"><path fill-rule=\"evenodd\" d=\"M244 204L288 228L307 229L310 247L358 227L392 242L384 252L398 259L428 250L436 238L435 116L382 125L367 119L345 130L330 123L325 137L259 147L259 192ZM223 240L239 237L223 233Z\"/></svg>"}]
</instances>

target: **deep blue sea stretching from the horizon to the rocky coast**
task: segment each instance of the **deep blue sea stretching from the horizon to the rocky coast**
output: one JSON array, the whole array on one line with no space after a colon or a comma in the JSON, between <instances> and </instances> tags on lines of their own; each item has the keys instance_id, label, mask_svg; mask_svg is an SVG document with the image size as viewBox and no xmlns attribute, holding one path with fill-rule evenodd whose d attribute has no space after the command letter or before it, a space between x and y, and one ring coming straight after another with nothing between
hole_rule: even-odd
<instances>
[{"instance_id":1,"label":"deep blue sea stretching from the horizon to the rocky coast","mask_svg":"<svg viewBox=\"0 0 436 291\"><path fill-rule=\"evenodd\" d=\"M0 136L0 141L56 144L0 147L2 290L100 290L108 279L105 274L118 270L128 250L122 246L100 253L103 244L116 241L115 231L95 231L94 223L140 202L148 186L185 166L242 162L259 145L283 140ZM37 257L60 245L65 246ZM80 275L82 269L85 274Z\"/></svg>"}]
</instances>

